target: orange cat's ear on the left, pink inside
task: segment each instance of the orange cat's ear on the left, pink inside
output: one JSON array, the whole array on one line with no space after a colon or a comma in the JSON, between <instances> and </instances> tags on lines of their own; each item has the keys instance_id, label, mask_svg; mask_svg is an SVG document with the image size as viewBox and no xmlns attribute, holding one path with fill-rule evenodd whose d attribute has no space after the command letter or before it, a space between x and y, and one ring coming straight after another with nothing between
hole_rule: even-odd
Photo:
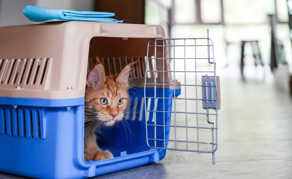
<instances>
[{"instance_id":1,"label":"orange cat's ear on the left, pink inside","mask_svg":"<svg viewBox=\"0 0 292 179\"><path fill-rule=\"evenodd\" d=\"M102 64L97 64L87 75L86 83L99 85L100 82L104 82L105 80L104 66L102 66Z\"/></svg>"}]
</instances>

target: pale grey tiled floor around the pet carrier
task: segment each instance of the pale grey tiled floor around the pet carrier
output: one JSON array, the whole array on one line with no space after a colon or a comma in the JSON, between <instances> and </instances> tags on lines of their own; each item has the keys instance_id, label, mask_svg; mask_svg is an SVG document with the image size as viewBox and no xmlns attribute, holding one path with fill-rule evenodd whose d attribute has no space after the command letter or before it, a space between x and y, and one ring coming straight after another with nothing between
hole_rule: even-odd
<instances>
[{"instance_id":1,"label":"pale grey tiled floor around the pet carrier","mask_svg":"<svg viewBox=\"0 0 292 179\"><path fill-rule=\"evenodd\" d=\"M291 98L272 83L220 80L215 165L211 154L168 151L158 163L96 179L292 178ZM0 178L20 177L0 174Z\"/></svg>"}]
</instances>

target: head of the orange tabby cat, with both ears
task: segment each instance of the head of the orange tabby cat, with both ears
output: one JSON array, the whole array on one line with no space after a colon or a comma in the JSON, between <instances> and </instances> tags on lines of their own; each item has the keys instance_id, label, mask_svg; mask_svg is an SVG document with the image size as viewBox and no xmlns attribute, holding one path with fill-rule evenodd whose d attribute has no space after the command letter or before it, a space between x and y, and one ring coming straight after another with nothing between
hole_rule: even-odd
<instances>
[{"instance_id":1,"label":"head of the orange tabby cat, with both ears","mask_svg":"<svg viewBox=\"0 0 292 179\"><path fill-rule=\"evenodd\" d=\"M132 64L124 67L117 76L106 76L104 67L97 58L97 64L86 77L86 122L97 126L112 126L123 119L129 102L128 78Z\"/></svg>"}]
</instances>

